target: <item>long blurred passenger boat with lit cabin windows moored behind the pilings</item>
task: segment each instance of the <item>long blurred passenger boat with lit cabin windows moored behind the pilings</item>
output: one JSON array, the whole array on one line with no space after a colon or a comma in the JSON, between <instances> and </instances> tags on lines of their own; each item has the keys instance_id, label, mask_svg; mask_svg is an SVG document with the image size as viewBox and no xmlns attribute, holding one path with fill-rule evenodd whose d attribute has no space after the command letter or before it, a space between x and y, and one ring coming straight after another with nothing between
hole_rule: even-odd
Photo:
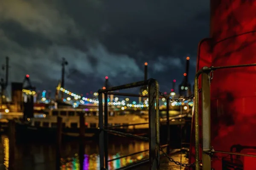
<instances>
[{"instance_id":1,"label":"long blurred passenger boat with lit cabin windows moored behind the pilings","mask_svg":"<svg viewBox=\"0 0 256 170\"><path fill-rule=\"evenodd\" d=\"M98 107L90 108L58 108L46 109L43 116L28 118L26 122L16 121L17 134L25 136L56 136L57 117L62 118L62 132L64 136L79 136L79 115L84 113L85 137L97 136L99 130L99 112ZM108 126L120 126L137 123L147 123L148 116L140 116L138 113L130 111L109 111ZM148 133L148 124L134 125L127 127L112 127L121 132L143 135Z\"/></svg>"}]
</instances>

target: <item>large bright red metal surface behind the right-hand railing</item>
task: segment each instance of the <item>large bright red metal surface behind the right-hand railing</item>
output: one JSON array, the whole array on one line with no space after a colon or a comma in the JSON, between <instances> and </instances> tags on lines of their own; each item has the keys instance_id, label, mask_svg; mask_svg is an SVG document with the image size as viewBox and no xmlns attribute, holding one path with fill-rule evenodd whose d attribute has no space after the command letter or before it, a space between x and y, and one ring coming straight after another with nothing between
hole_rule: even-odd
<instances>
[{"instance_id":1,"label":"large bright red metal surface behind the right-hand railing","mask_svg":"<svg viewBox=\"0 0 256 170\"><path fill-rule=\"evenodd\" d=\"M255 30L256 0L211 0L212 39L199 45L198 68L256 63ZM230 151L233 144L256 145L255 102L255 67L214 72L211 84L211 142L215 150ZM194 141L192 138L192 145ZM194 153L192 147L192 162L195 160ZM212 158L212 167L221 170L221 157L227 155L214 156L218 158ZM247 166L245 164L248 161L244 161L244 166Z\"/></svg>"}]
</instances>

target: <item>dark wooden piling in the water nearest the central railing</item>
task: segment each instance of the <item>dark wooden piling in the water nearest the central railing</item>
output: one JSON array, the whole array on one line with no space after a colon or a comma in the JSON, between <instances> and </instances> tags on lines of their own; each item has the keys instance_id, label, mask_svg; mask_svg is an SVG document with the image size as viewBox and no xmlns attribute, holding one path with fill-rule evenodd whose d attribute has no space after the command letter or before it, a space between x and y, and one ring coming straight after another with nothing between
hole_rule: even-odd
<instances>
[{"instance_id":1,"label":"dark wooden piling in the water nearest the central railing","mask_svg":"<svg viewBox=\"0 0 256 170\"><path fill-rule=\"evenodd\" d=\"M80 170L83 169L84 166L84 132L85 132L85 121L84 121L84 113L81 112L79 115L79 164Z\"/></svg>"}]
</instances>

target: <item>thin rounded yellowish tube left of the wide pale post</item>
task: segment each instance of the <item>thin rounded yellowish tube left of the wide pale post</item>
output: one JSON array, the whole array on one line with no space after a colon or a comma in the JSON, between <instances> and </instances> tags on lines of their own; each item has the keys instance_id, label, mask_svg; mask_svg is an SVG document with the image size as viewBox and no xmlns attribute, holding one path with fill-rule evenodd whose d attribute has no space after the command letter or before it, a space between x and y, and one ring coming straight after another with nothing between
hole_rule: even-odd
<instances>
[{"instance_id":1,"label":"thin rounded yellowish tube left of the wide pale post","mask_svg":"<svg viewBox=\"0 0 256 170\"><path fill-rule=\"evenodd\" d=\"M195 75L195 170L199 167L199 98L198 98L198 77L201 71Z\"/></svg>"}]
</instances>

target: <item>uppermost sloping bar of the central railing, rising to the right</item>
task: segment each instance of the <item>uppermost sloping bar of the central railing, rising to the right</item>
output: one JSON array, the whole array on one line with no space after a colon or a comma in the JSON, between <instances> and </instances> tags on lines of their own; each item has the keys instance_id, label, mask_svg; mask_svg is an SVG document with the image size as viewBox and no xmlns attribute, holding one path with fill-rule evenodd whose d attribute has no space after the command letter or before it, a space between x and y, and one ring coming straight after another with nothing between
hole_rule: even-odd
<instances>
[{"instance_id":1,"label":"uppermost sloping bar of the central railing, rising to the right","mask_svg":"<svg viewBox=\"0 0 256 170\"><path fill-rule=\"evenodd\" d=\"M136 88L136 87L140 87L140 86L143 86L143 85L148 85L149 80L150 79L145 80L145 81L140 81L140 82L134 82L134 83L126 84L126 85L119 85L119 86L116 86L116 87L107 88L105 90L99 89L98 93L123 90L123 89L127 89L127 88Z\"/></svg>"}]
</instances>

